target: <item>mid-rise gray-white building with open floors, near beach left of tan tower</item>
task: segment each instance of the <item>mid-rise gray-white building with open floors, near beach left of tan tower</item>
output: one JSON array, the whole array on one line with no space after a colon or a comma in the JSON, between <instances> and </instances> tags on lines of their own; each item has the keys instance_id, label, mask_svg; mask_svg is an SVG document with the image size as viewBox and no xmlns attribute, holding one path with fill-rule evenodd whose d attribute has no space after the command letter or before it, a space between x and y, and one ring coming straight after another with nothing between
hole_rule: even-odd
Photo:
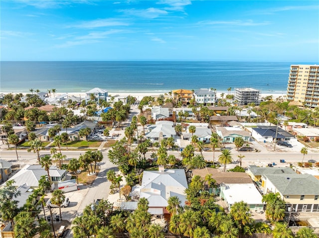
<instances>
[{"instance_id":1,"label":"mid-rise gray-white building with open floors, near beach left of tan tower","mask_svg":"<svg viewBox=\"0 0 319 238\"><path fill-rule=\"evenodd\" d=\"M252 102L258 106L260 104L259 93L259 90L251 87L235 88L234 100L237 101L240 106L248 105Z\"/></svg>"}]
</instances>

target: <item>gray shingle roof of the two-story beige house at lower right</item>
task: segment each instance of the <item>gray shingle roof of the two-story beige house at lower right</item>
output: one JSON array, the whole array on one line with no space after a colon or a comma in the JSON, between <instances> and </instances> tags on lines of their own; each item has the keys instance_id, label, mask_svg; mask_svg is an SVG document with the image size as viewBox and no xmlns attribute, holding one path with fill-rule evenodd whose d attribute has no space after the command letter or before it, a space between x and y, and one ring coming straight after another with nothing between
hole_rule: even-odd
<instances>
[{"instance_id":1,"label":"gray shingle roof of the two-story beige house at lower right","mask_svg":"<svg viewBox=\"0 0 319 238\"><path fill-rule=\"evenodd\" d=\"M266 174L283 195L319 195L319 180L310 174Z\"/></svg>"}]
</instances>

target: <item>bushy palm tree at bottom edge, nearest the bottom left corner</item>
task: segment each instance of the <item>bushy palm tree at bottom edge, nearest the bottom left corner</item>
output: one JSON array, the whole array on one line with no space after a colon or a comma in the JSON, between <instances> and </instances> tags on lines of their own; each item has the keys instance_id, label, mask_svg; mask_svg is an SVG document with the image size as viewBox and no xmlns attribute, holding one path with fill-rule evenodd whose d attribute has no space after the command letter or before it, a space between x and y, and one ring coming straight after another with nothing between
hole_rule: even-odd
<instances>
[{"instance_id":1,"label":"bushy palm tree at bottom edge, nearest the bottom left corner","mask_svg":"<svg viewBox=\"0 0 319 238\"><path fill-rule=\"evenodd\" d=\"M31 213L20 212L14 217L14 237L32 238L36 234L34 218Z\"/></svg>"}]
</instances>

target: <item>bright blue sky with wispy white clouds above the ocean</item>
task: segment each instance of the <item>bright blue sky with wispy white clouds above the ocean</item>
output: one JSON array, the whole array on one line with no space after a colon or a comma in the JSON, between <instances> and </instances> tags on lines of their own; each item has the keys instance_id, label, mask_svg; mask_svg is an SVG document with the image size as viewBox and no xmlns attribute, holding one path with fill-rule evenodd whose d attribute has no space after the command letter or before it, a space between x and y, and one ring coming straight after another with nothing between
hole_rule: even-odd
<instances>
[{"instance_id":1,"label":"bright blue sky with wispy white clouds above the ocean","mask_svg":"<svg viewBox=\"0 0 319 238\"><path fill-rule=\"evenodd\" d=\"M319 62L319 2L1 0L1 60Z\"/></svg>"}]
</instances>

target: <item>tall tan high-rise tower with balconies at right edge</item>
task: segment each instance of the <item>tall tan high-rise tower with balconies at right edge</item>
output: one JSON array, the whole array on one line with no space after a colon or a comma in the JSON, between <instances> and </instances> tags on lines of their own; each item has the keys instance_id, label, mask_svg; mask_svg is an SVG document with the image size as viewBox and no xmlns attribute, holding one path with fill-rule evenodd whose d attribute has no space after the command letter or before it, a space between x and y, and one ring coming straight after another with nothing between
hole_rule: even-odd
<instances>
[{"instance_id":1,"label":"tall tan high-rise tower with balconies at right edge","mask_svg":"<svg viewBox=\"0 0 319 238\"><path fill-rule=\"evenodd\" d=\"M319 106L319 65L290 67L287 100L300 106Z\"/></svg>"}]
</instances>

